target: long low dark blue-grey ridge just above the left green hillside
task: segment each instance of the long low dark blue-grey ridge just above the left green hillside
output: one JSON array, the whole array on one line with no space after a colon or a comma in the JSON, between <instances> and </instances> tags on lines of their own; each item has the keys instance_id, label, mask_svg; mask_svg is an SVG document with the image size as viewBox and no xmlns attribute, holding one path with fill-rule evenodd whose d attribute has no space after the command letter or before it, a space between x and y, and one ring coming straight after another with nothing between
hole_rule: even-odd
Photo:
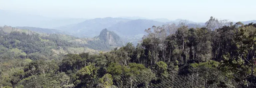
<instances>
[{"instance_id":1,"label":"long low dark blue-grey ridge just above the left green hillside","mask_svg":"<svg viewBox=\"0 0 256 88\"><path fill-rule=\"evenodd\" d=\"M17 29L27 29L30 31L35 31L39 33L46 33L46 34L67 34L64 31L56 30L56 29L44 29L44 28L36 28L36 27L15 27Z\"/></svg>"}]
</instances>

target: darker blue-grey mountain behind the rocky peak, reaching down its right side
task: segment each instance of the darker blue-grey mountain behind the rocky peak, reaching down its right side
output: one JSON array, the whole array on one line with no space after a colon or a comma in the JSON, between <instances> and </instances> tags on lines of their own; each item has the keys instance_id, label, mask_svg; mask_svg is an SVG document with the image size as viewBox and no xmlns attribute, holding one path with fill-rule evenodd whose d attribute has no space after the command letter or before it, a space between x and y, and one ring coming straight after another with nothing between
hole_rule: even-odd
<instances>
[{"instance_id":1,"label":"darker blue-grey mountain behind the rocky peak, reaching down its right side","mask_svg":"<svg viewBox=\"0 0 256 88\"><path fill-rule=\"evenodd\" d=\"M114 31L118 35L121 35L124 43L133 43L136 45L141 38L146 35L145 29L151 28L153 25L160 26L165 23L153 21L153 20L145 20L145 19L137 19L130 20L127 22L119 22L108 28L110 31Z\"/></svg>"}]
</instances>

